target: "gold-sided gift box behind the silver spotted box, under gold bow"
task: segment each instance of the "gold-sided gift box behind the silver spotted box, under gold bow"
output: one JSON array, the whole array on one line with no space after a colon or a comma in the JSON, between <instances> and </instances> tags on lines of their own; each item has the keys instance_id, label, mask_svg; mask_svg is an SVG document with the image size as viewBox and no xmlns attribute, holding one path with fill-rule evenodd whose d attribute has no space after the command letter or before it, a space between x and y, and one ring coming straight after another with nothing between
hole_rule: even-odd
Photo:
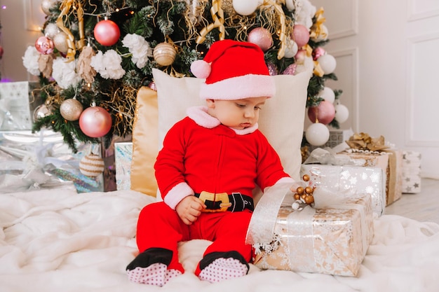
<instances>
[{"instance_id":1,"label":"gold-sided gift box behind the silver spotted box, under gold bow","mask_svg":"<svg viewBox=\"0 0 439 292\"><path fill-rule=\"evenodd\" d=\"M376 152L342 152L356 160L356 165L381 167L386 181L386 206L399 200L403 195L403 151L386 149Z\"/></svg>"}]
</instances>

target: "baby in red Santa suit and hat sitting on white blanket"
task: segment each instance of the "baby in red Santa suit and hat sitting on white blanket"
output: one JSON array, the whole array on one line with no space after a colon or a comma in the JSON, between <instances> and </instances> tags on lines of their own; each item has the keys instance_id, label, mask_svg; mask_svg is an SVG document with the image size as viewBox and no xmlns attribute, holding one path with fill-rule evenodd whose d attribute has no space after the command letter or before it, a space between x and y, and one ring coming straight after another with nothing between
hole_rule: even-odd
<instances>
[{"instance_id":1,"label":"baby in red Santa suit and hat sitting on white blanket","mask_svg":"<svg viewBox=\"0 0 439 292\"><path fill-rule=\"evenodd\" d=\"M191 65L205 78L205 106L166 134L154 168L163 202L147 205L137 222L139 255L127 266L137 283L163 286L184 273L177 243L212 241L196 267L201 280L217 282L248 273L252 246L245 244L255 185L262 190L295 181L258 130L259 111L275 84L255 44L232 40L212 44ZM269 101L267 101L269 102Z\"/></svg>"}]
</instances>

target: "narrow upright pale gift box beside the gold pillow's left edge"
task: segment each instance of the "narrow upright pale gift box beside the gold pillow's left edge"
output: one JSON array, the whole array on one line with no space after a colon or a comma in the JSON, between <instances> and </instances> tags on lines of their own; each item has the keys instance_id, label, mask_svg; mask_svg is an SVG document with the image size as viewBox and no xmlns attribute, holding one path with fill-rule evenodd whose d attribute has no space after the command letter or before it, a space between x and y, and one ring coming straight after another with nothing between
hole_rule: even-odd
<instances>
[{"instance_id":1,"label":"narrow upright pale gift box beside the gold pillow's left edge","mask_svg":"<svg viewBox=\"0 0 439 292\"><path fill-rule=\"evenodd\" d=\"M131 160L133 143L121 142L114 144L114 160L116 163L116 187L118 190L130 190Z\"/></svg>"}]
</instances>

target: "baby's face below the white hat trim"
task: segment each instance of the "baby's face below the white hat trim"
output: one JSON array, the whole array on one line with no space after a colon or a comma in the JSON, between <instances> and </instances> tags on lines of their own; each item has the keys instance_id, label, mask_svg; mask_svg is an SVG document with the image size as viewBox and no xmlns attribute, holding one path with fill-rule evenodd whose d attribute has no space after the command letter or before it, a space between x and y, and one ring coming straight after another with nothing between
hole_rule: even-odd
<instances>
[{"instance_id":1,"label":"baby's face below the white hat trim","mask_svg":"<svg viewBox=\"0 0 439 292\"><path fill-rule=\"evenodd\" d=\"M223 125L243 130L259 120L259 111L267 97L249 97L236 100L208 99L208 113Z\"/></svg>"}]
</instances>

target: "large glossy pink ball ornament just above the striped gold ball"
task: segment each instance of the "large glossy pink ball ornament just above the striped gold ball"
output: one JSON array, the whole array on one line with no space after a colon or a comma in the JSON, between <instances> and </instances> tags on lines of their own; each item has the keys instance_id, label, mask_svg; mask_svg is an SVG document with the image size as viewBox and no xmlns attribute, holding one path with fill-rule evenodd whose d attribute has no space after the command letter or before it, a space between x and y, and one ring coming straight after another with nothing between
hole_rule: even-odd
<instances>
[{"instance_id":1,"label":"large glossy pink ball ornament just above the striped gold ball","mask_svg":"<svg viewBox=\"0 0 439 292\"><path fill-rule=\"evenodd\" d=\"M112 116L100 106L91 106L81 113L79 128L88 137L103 137L112 128Z\"/></svg>"}]
</instances>

